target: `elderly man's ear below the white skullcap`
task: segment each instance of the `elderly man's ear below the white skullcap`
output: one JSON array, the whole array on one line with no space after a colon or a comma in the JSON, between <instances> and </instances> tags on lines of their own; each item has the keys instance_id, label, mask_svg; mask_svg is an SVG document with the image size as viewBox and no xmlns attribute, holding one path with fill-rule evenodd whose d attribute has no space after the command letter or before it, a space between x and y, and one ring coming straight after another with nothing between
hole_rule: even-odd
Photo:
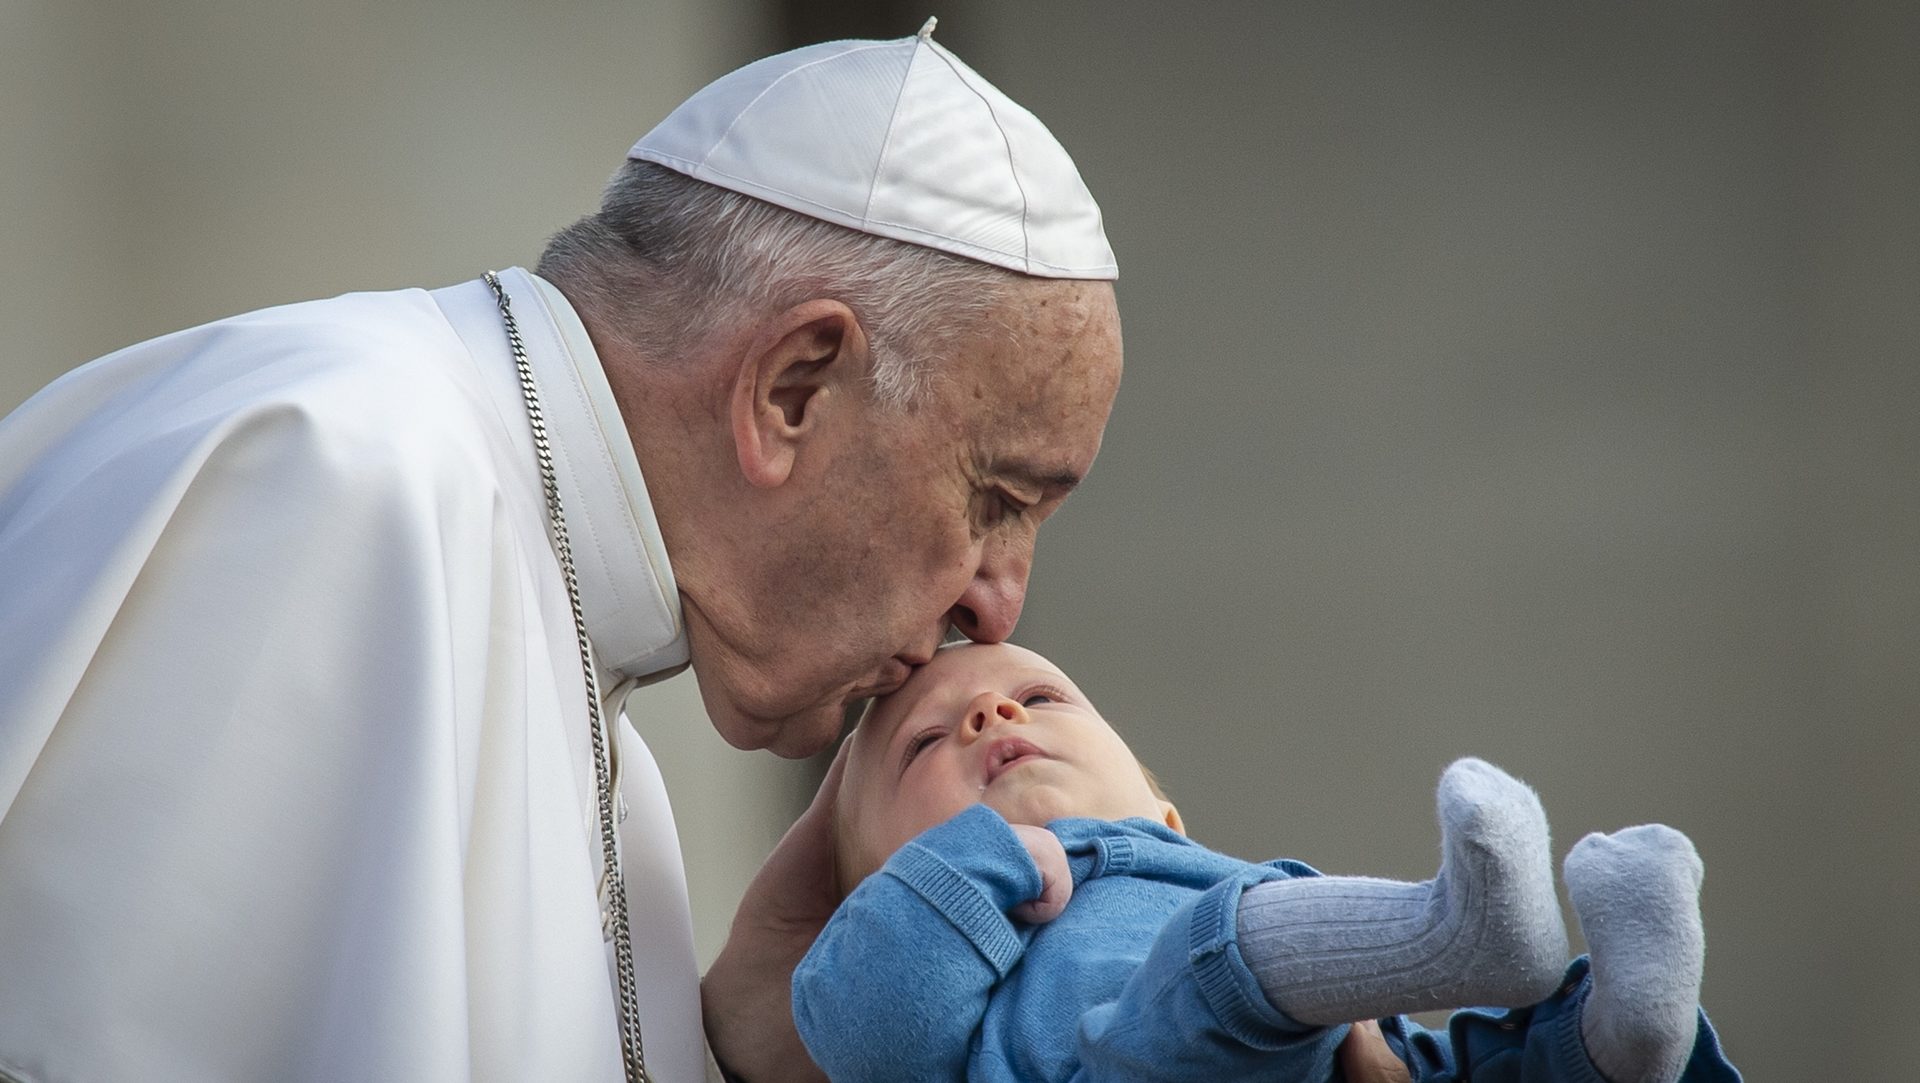
<instances>
[{"instance_id":1,"label":"elderly man's ear below the white skullcap","mask_svg":"<svg viewBox=\"0 0 1920 1083\"><path fill-rule=\"evenodd\" d=\"M766 321L728 396L733 451L747 480L783 484L822 415L854 401L866 367L866 332L839 301L803 301Z\"/></svg>"}]
</instances>

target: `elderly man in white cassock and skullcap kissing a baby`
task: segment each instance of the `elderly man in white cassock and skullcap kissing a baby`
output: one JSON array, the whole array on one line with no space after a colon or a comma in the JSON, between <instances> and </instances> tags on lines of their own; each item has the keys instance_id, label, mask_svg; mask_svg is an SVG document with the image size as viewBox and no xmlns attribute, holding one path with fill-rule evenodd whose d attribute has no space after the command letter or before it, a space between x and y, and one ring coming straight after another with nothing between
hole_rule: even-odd
<instances>
[{"instance_id":1,"label":"elderly man in white cassock and skullcap kissing a baby","mask_svg":"<svg viewBox=\"0 0 1920 1083\"><path fill-rule=\"evenodd\" d=\"M624 691L691 661L797 757L1012 632L1119 384L1066 152L922 31L630 157L538 275L182 330L0 424L0 1079L699 1079ZM747 1077L806 1068L818 824L707 987Z\"/></svg>"}]
</instances>

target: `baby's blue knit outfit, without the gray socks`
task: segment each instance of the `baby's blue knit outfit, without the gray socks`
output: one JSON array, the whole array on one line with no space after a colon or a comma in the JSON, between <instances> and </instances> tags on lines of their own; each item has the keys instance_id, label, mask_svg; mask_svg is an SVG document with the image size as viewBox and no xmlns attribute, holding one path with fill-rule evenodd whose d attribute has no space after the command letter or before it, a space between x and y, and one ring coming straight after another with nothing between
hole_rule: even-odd
<instances>
[{"instance_id":1,"label":"baby's blue knit outfit, without the gray socks","mask_svg":"<svg viewBox=\"0 0 1920 1083\"><path fill-rule=\"evenodd\" d=\"M1073 901L1046 926L1008 908L1039 870L975 805L902 847L833 914L793 974L793 1018L837 1083L933 1079L1338 1079L1346 1027L1298 1023L1240 960L1240 891L1319 876L1213 853L1150 820L1056 820ZM1457 1012L1448 1029L1382 1020L1417 1081L1605 1083L1580 1045L1586 960L1551 999ZM1738 1081L1699 1023L1684 1083Z\"/></svg>"}]
</instances>

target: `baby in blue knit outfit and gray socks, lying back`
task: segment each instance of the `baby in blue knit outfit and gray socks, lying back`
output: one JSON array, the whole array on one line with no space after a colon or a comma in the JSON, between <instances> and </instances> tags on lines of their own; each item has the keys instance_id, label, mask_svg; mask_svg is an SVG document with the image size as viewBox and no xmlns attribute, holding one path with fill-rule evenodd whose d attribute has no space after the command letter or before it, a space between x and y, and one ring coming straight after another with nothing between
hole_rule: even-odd
<instances>
[{"instance_id":1,"label":"baby in blue knit outfit and gray socks, lying back","mask_svg":"<svg viewBox=\"0 0 1920 1083\"><path fill-rule=\"evenodd\" d=\"M1459 760L1438 814L1425 883L1217 854L1046 659L948 647L851 737L847 897L793 974L793 1016L835 1081L1323 1081L1344 1023L1379 1016L1417 1081L1740 1079L1695 1004L1686 835L1572 849L1592 964L1563 972L1534 793ZM1465 1004L1513 1010L1446 1033L1398 1018Z\"/></svg>"}]
</instances>

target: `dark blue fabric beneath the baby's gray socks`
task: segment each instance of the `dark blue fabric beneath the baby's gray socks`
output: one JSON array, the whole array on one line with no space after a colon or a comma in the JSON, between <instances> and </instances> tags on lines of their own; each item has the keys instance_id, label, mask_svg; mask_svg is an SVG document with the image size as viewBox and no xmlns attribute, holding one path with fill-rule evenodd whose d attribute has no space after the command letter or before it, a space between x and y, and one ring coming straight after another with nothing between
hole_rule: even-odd
<instances>
[{"instance_id":1,"label":"dark blue fabric beneath the baby's gray socks","mask_svg":"<svg viewBox=\"0 0 1920 1083\"><path fill-rule=\"evenodd\" d=\"M1607 1083L1580 1041L1580 1006L1588 991L1588 960L1567 968L1559 993L1528 1008L1471 1008L1448 1018L1446 1033L1407 1018L1380 1020L1415 1083ZM1693 1056L1680 1083L1740 1083L1740 1071L1720 1052L1720 1037L1699 1014Z\"/></svg>"}]
</instances>

